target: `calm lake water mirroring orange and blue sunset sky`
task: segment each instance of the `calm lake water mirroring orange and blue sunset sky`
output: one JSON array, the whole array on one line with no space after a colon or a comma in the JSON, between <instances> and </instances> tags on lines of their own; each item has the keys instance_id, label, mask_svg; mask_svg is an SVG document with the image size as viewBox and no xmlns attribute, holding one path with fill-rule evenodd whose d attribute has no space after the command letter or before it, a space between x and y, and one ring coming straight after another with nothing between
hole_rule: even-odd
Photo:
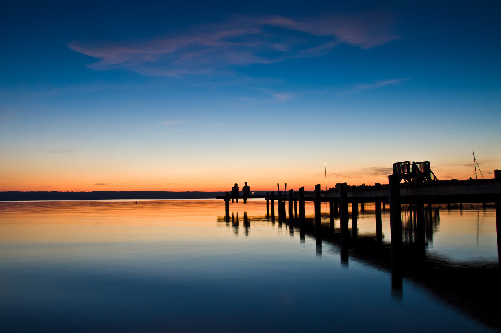
<instances>
[{"instance_id":1,"label":"calm lake water mirroring orange and blue sunset sky","mask_svg":"<svg viewBox=\"0 0 501 333\"><path fill-rule=\"evenodd\" d=\"M401 289L392 291L384 249L389 212L383 214L379 254L359 245L350 249L348 261L341 261L336 242L339 221L331 225L327 215L325 236L317 242L311 228L301 232L294 223L266 219L264 201L230 204L230 212L233 222L225 222L220 200L0 203L2 331L499 327L488 310L475 312L474 290L473 296L456 293L439 275L404 272ZM366 204L358 244L374 243L373 213L374 204ZM307 217L312 214L307 203ZM403 220L412 252L413 217L404 210ZM434 271L452 272L452 280L464 278L466 266L468 272L496 270L495 231L493 208L433 205L426 262ZM468 279L467 288L480 283Z\"/></svg>"}]
</instances>

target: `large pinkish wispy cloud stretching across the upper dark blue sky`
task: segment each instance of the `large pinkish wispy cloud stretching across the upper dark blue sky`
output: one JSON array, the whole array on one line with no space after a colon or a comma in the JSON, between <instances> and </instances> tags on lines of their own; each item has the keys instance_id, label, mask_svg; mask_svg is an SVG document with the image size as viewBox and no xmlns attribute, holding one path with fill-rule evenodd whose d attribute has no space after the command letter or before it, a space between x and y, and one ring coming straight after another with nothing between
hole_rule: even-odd
<instances>
[{"instance_id":1,"label":"large pinkish wispy cloud stretching across the upper dark blue sky","mask_svg":"<svg viewBox=\"0 0 501 333\"><path fill-rule=\"evenodd\" d=\"M231 66L318 57L339 44L370 49L400 38L382 12L322 17L248 17L192 27L165 38L126 42L75 40L68 47L99 60L96 70L127 68L144 75L227 74Z\"/></svg>"}]
</instances>

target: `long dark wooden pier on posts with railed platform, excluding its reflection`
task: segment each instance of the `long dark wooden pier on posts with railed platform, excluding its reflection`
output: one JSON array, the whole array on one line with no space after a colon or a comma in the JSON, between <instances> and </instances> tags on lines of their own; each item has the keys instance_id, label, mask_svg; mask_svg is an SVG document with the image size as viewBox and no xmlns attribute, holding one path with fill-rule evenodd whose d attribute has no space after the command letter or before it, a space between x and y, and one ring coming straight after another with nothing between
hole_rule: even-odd
<instances>
[{"instance_id":1,"label":"long dark wooden pier on posts with railed platform, excluding its reflection","mask_svg":"<svg viewBox=\"0 0 501 333\"><path fill-rule=\"evenodd\" d=\"M403 183L402 183L403 181ZM228 192L225 196L217 196L225 203L225 218L229 221L229 201L231 198L244 198L243 196L231 197ZM329 203L329 217L333 223L335 217L339 217L341 224L340 244L343 257L344 248L350 242L357 240L357 214L359 203L375 203L375 231L378 243L381 236L381 211L390 206L390 229L391 229L391 254L392 269L398 269L402 259L402 205L409 205L417 220L418 248L424 255L424 221L425 217L431 219L432 204L460 204L465 203L494 203L496 209L496 232L498 258L501 259L501 170L494 170L493 179L465 180L465 181L440 181L429 167L429 162L404 161L393 164L393 174L388 176L388 184L374 184L373 186L348 186L347 183L339 184L337 188L322 191L321 185L315 186L314 192L305 192L304 187L299 191L289 190L267 193L262 196L249 196L249 199L266 200L266 217L275 220L275 201L278 206L278 221L285 221L286 204L289 205L289 221L298 219L297 206L299 201L299 224L305 225L305 202L315 202L315 230L320 239L320 203ZM271 202L271 216L270 216ZM352 204L352 235L348 230L348 205ZM295 212L293 213L293 206ZM362 206L363 207L363 206ZM421 244L422 243L422 244ZM422 245L422 246L421 246ZM347 253L347 252L346 252ZM396 274L398 275L398 274Z\"/></svg>"}]
</instances>

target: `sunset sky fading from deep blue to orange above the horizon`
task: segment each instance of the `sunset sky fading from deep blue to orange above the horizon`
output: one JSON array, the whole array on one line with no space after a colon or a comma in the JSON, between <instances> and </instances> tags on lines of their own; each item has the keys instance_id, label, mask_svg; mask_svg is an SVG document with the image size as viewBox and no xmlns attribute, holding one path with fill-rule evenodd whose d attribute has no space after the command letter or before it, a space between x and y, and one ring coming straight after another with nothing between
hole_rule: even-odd
<instances>
[{"instance_id":1,"label":"sunset sky fading from deep blue to orange above the horizon","mask_svg":"<svg viewBox=\"0 0 501 333\"><path fill-rule=\"evenodd\" d=\"M496 1L0 6L0 191L312 190L405 160L474 179L472 151L501 169Z\"/></svg>"}]
</instances>

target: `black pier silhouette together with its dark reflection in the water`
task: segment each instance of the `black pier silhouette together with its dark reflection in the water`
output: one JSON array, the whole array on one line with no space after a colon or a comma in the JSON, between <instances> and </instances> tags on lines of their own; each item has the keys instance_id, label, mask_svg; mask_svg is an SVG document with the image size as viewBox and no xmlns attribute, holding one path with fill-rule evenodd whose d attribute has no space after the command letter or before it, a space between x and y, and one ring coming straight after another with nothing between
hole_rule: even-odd
<instances>
[{"instance_id":1,"label":"black pier silhouette together with its dark reflection in the water","mask_svg":"<svg viewBox=\"0 0 501 333\"><path fill-rule=\"evenodd\" d=\"M381 269L391 271L392 295L401 297L402 279L409 278L423 288L433 292L441 299L465 311L470 316L489 326L501 328L500 306L497 299L501 295L499 287L499 264L479 265L475 267L450 265L443 258L430 257L426 254L427 240L433 236L439 210L433 210L432 204L494 203L496 210L496 234L498 261L501 258L501 170L494 170L493 179L440 181L429 167L429 162L398 162L393 165L393 174L388 176L388 184L376 183L373 186L348 186L339 184L337 188L321 191L321 185L315 186L313 193L304 191L304 187L288 193L278 191L250 198L266 200L265 219L279 225L285 221L293 228L298 228L300 239L305 235L315 238L317 254L322 253L322 241L328 241L339 248L341 261L348 264L349 257L356 257ZM403 181L403 183L401 183ZM225 202L225 216L229 221L229 194L217 196ZM275 215L277 201L278 216ZM313 217L305 216L305 202L313 201ZM271 214L270 214L271 202ZM297 206L299 202L299 216ZM326 216L329 225L321 222L321 203L329 203ZM286 203L289 216L286 214ZM357 232L359 203L375 204L375 226L373 237L360 236ZM349 228L349 204L352 204L352 228ZM383 242L382 212L386 213L389 205L391 241ZM410 223L402 221L402 207L413 219ZM294 208L294 209L293 209ZM334 220L339 217L340 228L334 228ZM413 217L413 218L412 218ZM409 226L415 241L409 242ZM496 305L492 305L495 303Z\"/></svg>"}]
</instances>

